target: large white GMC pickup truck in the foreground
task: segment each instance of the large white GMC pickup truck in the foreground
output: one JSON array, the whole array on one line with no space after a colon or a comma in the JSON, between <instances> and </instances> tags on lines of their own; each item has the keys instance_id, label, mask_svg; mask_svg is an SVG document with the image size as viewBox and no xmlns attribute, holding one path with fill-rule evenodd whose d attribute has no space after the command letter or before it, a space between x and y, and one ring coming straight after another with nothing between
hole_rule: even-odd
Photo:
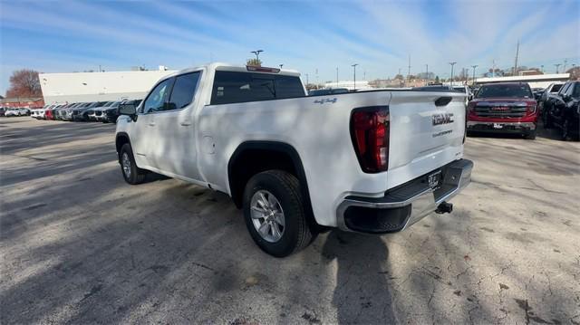
<instances>
[{"instance_id":1,"label":"large white GMC pickup truck in the foreground","mask_svg":"<svg viewBox=\"0 0 580 325\"><path fill-rule=\"evenodd\" d=\"M316 234L399 232L470 182L465 94L360 91L307 96L298 72L212 63L161 79L121 105L122 175L150 171L227 193L266 253Z\"/></svg>"}]
</instances>

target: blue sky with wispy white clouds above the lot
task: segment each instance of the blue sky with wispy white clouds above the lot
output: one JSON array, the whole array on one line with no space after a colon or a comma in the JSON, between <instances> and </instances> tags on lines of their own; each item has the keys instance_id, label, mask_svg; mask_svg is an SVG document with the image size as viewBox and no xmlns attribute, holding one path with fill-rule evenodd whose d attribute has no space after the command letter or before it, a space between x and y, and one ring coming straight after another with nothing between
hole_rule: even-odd
<instances>
[{"instance_id":1,"label":"blue sky with wispy white clouds above the lot","mask_svg":"<svg viewBox=\"0 0 580 325\"><path fill-rule=\"evenodd\" d=\"M267 66L285 64L311 81L367 79L425 71L449 77L478 64L568 60L580 65L580 1L406 2L0 2L0 93L15 69L40 72L181 69L244 63L256 49ZM316 73L316 71L318 73ZM357 78L358 79L358 78Z\"/></svg>"}]
</instances>

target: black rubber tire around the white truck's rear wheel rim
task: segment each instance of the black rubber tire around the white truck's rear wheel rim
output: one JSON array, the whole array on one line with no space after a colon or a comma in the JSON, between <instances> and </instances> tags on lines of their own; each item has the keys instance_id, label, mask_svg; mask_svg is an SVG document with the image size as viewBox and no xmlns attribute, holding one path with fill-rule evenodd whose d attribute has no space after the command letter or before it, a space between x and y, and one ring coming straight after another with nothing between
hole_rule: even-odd
<instances>
[{"instance_id":1,"label":"black rubber tire around the white truck's rear wheel rim","mask_svg":"<svg viewBox=\"0 0 580 325\"><path fill-rule=\"evenodd\" d=\"M258 234L252 219L252 197L260 190L275 196L283 211L284 231L274 243L266 241ZM313 227L306 219L304 197L298 179L285 171L268 170L251 177L244 190L243 209L247 230L252 239L264 252L275 257L296 253L312 243L316 237Z\"/></svg>"}]
</instances>

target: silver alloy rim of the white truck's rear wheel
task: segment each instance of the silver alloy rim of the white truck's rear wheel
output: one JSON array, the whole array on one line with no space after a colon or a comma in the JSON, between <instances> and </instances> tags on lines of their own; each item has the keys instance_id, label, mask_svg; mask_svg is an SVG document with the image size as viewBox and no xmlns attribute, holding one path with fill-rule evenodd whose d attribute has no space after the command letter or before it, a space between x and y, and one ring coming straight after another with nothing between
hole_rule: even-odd
<instances>
[{"instance_id":1,"label":"silver alloy rim of the white truck's rear wheel","mask_svg":"<svg viewBox=\"0 0 580 325\"><path fill-rule=\"evenodd\" d=\"M268 243L276 243L285 232L285 215L280 201L261 189L252 196L250 216L257 234Z\"/></svg>"}]
</instances>

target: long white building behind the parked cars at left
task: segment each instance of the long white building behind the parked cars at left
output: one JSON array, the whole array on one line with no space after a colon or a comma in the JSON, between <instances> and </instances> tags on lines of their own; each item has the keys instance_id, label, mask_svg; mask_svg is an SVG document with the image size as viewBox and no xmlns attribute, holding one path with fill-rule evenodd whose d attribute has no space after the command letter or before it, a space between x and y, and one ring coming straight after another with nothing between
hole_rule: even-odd
<instances>
[{"instance_id":1,"label":"long white building behind the parked cars at left","mask_svg":"<svg viewBox=\"0 0 580 325\"><path fill-rule=\"evenodd\" d=\"M40 73L45 104L139 100L155 82L174 71Z\"/></svg>"}]
</instances>

